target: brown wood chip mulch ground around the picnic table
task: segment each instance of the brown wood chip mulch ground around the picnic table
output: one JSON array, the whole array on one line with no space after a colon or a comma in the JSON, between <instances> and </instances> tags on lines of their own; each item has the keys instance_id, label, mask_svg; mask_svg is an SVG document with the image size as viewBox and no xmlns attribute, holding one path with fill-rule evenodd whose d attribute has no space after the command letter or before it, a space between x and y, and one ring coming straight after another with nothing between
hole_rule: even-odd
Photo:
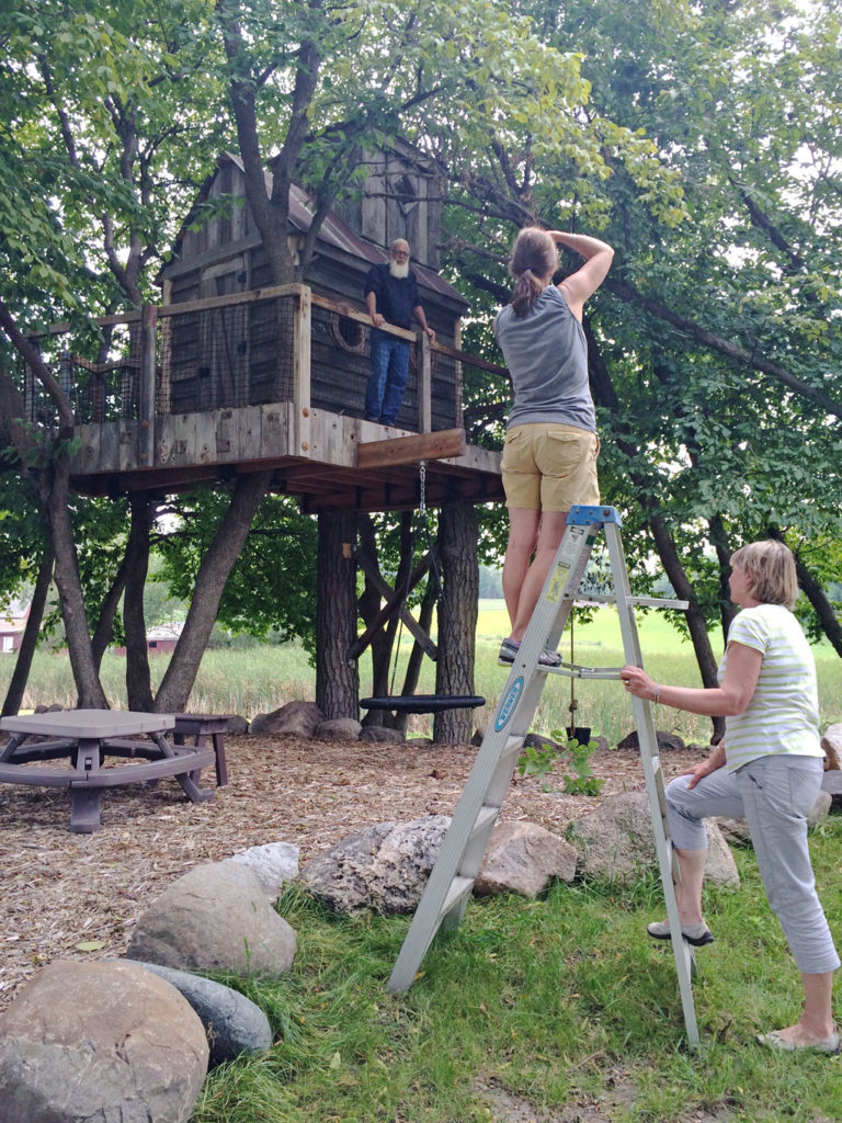
<instances>
[{"instance_id":1,"label":"brown wood chip mulch ground around the picnic table","mask_svg":"<svg viewBox=\"0 0 842 1123\"><path fill-rule=\"evenodd\" d=\"M289 737L226 738L228 785L190 803L174 778L102 795L102 825L74 834L64 789L0 784L0 1010L54 959L126 951L131 929L176 877L253 846L291 842L302 867L321 850L378 822L452 814L476 756L472 746L322 742ZM665 754L665 776L699 759ZM601 797L643 787L634 751L598 752ZM549 783L562 787L557 766ZM213 786L213 769L202 774ZM501 820L528 819L564 833L597 800L544 792L515 773Z\"/></svg>"}]
</instances>

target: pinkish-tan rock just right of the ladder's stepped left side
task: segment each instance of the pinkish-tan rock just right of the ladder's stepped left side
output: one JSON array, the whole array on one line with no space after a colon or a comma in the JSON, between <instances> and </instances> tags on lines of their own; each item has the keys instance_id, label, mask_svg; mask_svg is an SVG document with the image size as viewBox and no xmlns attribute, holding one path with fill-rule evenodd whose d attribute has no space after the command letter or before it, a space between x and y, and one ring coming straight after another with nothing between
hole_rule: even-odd
<instances>
[{"instance_id":1,"label":"pinkish-tan rock just right of the ladder's stepped left side","mask_svg":"<svg viewBox=\"0 0 842 1123\"><path fill-rule=\"evenodd\" d=\"M497 823L474 883L477 896L522 893L537 897L553 878L576 876L576 848L537 823Z\"/></svg>"}]
</instances>

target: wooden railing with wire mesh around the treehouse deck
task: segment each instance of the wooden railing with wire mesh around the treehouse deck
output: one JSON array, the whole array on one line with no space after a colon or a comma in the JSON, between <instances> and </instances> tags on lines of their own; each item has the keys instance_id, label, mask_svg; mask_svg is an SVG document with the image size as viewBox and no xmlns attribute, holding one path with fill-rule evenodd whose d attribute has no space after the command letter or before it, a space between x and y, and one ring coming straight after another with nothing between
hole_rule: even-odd
<instances>
[{"instance_id":1,"label":"wooden railing with wire mesh around the treehouse deck","mask_svg":"<svg viewBox=\"0 0 842 1123\"><path fill-rule=\"evenodd\" d=\"M369 371L370 319L303 284L274 285L95 321L86 345L67 323L33 336L58 378L77 424L119 422L135 433L140 465L154 463L155 419L291 402L291 447L306 455L314 409L363 417ZM412 347L410 385L397 424L415 432L466 424L463 368L503 378L504 367L401 328L384 327ZM502 384L501 384L502 385ZM42 384L24 372L27 416L52 427L56 410ZM487 419L472 412L468 433Z\"/></svg>"}]
</instances>

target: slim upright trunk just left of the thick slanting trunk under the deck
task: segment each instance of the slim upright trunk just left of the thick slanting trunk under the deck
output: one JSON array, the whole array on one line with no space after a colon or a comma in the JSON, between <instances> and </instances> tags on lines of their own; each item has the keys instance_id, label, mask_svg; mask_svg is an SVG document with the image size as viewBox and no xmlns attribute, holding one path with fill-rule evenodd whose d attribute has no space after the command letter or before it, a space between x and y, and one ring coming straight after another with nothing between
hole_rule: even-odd
<instances>
[{"instance_id":1,"label":"slim upright trunk just left of the thick slanting trunk under the deck","mask_svg":"<svg viewBox=\"0 0 842 1123\"><path fill-rule=\"evenodd\" d=\"M144 617L144 588L149 570L149 532L154 512L155 506L146 496L131 496L131 528L125 558L126 597L122 605L122 623L126 629L126 693L129 710L145 713L152 712L154 704Z\"/></svg>"}]
</instances>

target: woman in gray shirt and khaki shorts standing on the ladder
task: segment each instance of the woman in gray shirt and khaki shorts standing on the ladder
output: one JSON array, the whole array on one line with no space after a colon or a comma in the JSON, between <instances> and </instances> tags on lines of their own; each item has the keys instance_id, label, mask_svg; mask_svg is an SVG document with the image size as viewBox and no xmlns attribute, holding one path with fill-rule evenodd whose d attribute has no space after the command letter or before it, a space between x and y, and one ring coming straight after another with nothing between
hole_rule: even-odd
<instances>
[{"instance_id":1,"label":"woman in gray shirt and khaki shorts standing on the ladder","mask_svg":"<svg viewBox=\"0 0 842 1123\"><path fill-rule=\"evenodd\" d=\"M555 285L558 244L582 254L585 264ZM512 627L500 649L502 665L518 655L567 512L575 503L600 502L600 439L582 314L613 257L598 238L525 227L509 263L516 283L494 322L514 390L502 465L509 508L503 595ZM540 661L558 666L561 657L544 651Z\"/></svg>"}]
</instances>

